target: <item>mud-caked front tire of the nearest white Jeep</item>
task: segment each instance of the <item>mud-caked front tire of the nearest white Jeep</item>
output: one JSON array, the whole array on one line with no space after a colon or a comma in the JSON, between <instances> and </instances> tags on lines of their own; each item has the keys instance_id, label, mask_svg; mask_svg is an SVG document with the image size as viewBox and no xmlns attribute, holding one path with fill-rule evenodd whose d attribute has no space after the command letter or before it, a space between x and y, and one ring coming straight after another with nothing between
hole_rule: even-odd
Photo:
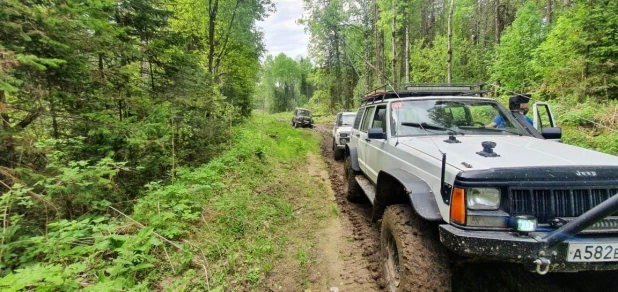
<instances>
[{"instance_id":1,"label":"mud-caked front tire of the nearest white Jeep","mask_svg":"<svg viewBox=\"0 0 618 292\"><path fill-rule=\"evenodd\" d=\"M432 228L409 205L386 208L380 235L386 291L452 290L448 253Z\"/></svg>"}]
</instances>

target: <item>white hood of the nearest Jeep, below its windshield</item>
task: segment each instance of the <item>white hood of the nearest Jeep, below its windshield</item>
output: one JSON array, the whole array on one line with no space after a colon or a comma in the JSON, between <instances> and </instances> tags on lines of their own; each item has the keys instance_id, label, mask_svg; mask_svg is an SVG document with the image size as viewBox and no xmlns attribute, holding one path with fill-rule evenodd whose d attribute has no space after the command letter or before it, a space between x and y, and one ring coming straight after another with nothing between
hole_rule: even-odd
<instances>
[{"instance_id":1,"label":"white hood of the nearest Jeep, below its windshield","mask_svg":"<svg viewBox=\"0 0 618 292\"><path fill-rule=\"evenodd\" d=\"M399 138L399 144L441 159L442 155L436 148L437 145L447 154L446 163L462 171L510 167L618 166L616 156L533 137L506 135L456 137L461 143L446 143L444 140L448 139L448 136L437 135ZM483 151L481 143L484 141L495 142L494 152L500 156L483 157L477 154Z\"/></svg>"}]
</instances>

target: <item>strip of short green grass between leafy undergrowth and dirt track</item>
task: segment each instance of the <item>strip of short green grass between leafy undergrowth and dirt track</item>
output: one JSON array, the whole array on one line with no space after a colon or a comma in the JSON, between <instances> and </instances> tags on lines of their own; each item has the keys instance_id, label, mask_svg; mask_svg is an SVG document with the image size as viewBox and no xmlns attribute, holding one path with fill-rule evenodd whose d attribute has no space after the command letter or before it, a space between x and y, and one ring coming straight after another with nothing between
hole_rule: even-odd
<instances>
[{"instance_id":1,"label":"strip of short green grass between leafy undergrowth and dirt track","mask_svg":"<svg viewBox=\"0 0 618 292\"><path fill-rule=\"evenodd\" d=\"M308 153L319 156L316 133L294 129L282 115L254 112L234 129L234 136L228 152L202 167L179 170L174 185L151 195L140 209L156 210L154 202L165 200L170 191L177 192L175 189L199 190L183 195L191 206L201 206L199 218L182 226L174 227L175 223L168 221L158 227L183 230L178 236L196 246L194 253L204 252L210 289L224 291L257 289L275 261L283 257L285 249L281 247L295 240L290 230L300 224L296 222L300 220L299 206L303 211L318 207L310 200L315 184L302 172ZM156 217L152 213L143 217ZM303 251L298 259L305 256ZM208 289L201 278L184 276L203 278L201 270L193 266L181 277L168 274L173 280L167 289Z\"/></svg>"}]
</instances>

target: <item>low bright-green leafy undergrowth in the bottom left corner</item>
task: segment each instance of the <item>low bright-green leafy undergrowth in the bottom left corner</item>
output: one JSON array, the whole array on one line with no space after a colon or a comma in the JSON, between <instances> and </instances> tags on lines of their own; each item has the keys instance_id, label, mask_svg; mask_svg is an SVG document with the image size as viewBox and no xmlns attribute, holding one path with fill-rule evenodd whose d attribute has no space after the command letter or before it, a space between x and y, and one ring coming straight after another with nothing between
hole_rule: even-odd
<instances>
[{"instance_id":1,"label":"low bright-green leafy undergrowth in the bottom left corner","mask_svg":"<svg viewBox=\"0 0 618 292\"><path fill-rule=\"evenodd\" d=\"M3 257L3 291L36 289L72 291L145 288L160 247L151 228L124 235L107 217L61 220L48 225L45 235L7 243ZM142 283L140 283L142 282Z\"/></svg>"}]
</instances>

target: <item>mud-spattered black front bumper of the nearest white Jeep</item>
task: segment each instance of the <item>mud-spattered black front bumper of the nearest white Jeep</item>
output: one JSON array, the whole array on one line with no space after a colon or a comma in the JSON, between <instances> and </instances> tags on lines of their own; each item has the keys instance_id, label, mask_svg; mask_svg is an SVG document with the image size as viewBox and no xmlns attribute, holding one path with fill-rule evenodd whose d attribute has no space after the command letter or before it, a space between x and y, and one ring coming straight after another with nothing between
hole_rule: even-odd
<instances>
[{"instance_id":1,"label":"mud-spattered black front bumper of the nearest white Jeep","mask_svg":"<svg viewBox=\"0 0 618 292\"><path fill-rule=\"evenodd\" d=\"M528 269L538 271L540 258L548 260L545 268L549 272L572 272L588 270L616 270L618 269L618 253L614 249L618 246L616 234L578 235L547 247L543 241L550 232L532 232L519 235L509 231L480 231L464 230L449 224L440 225L440 241L456 254L479 260L513 262L524 264ZM579 259L583 261L569 261L570 245L590 246L590 255L582 251ZM594 261L594 249L602 247L601 259L609 257L615 261ZM607 250L609 249L609 250ZM608 254L609 253L609 254ZM586 257L590 261L585 261Z\"/></svg>"}]
</instances>

